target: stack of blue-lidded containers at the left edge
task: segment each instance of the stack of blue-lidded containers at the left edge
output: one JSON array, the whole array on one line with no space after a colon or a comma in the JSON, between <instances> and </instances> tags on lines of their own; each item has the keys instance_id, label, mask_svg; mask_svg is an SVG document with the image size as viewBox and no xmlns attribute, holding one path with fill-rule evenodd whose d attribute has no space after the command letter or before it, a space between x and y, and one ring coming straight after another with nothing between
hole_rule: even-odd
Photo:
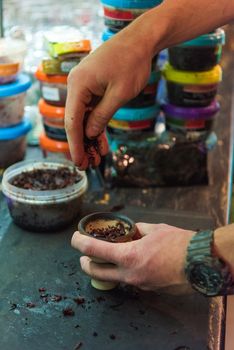
<instances>
[{"instance_id":1,"label":"stack of blue-lidded containers at the left edge","mask_svg":"<svg viewBox=\"0 0 234 350\"><path fill-rule=\"evenodd\" d=\"M24 158L31 124L24 117L30 78L21 73L26 44L0 39L0 172Z\"/></svg>"}]
</instances>

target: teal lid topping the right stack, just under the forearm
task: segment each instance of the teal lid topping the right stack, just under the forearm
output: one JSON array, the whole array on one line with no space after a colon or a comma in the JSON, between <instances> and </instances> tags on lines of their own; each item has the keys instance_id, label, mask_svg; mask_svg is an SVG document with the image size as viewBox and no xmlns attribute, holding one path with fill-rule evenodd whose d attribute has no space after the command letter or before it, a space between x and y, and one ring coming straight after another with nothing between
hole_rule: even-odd
<instances>
[{"instance_id":1,"label":"teal lid topping the right stack, just under the forearm","mask_svg":"<svg viewBox=\"0 0 234 350\"><path fill-rule=\"evenodd\" d=\"M179 47L194 47L194 46L216 46L225 44L225 32L218 28L216 31L198 36L195 39L185 41L177 46Z\"/></svg>"}]
</instances>

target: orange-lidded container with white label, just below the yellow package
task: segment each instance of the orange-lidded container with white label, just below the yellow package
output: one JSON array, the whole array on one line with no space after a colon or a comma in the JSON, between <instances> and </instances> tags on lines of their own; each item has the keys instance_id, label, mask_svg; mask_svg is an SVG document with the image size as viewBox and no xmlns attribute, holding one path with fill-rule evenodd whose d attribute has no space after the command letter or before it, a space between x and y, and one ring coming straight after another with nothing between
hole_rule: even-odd
<instances>
[{"instance_id":1,"label":"orange-lidded container with white label, just below the yellow package","mask_svg":"<svg viewBox=\"0 0 234 350\"><path fill-rule=\"evenodd\" d=\"M40 81L40 89L43 99L53 106L64 107L67 98L67 76L46 75L41 66L35 73Z\"/></svg>"}]
</instances>

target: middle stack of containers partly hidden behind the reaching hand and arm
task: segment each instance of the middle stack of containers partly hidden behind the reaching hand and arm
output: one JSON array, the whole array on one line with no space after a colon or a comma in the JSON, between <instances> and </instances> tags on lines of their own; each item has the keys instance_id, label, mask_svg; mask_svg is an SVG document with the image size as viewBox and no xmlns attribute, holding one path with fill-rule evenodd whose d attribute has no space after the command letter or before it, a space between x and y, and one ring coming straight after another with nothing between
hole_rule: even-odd
<instances>
[{"instance_id":1,"label":"middle stack of containers partly hidden behind the reaching hand and arm","mask_svg":"<svg viewBox=\"0 0 234 350\"><path fill-rule=\"evenodd\" d=\"M104 22L108 27L103 33L103 41L109 40L136 17L160 3L159 0L102 0ZM157 70L157 57L154 57L146 87L138 96L120 108L109 122L107 131L113 166L114 159L122 145L127 147L131 144L139 144L139 142L145 144L146 140L154 134L154 126L159 113L156 94L160 77L160 71ZM116 171L116 169L113 170Z\"/></svg>"}]
</instances>

